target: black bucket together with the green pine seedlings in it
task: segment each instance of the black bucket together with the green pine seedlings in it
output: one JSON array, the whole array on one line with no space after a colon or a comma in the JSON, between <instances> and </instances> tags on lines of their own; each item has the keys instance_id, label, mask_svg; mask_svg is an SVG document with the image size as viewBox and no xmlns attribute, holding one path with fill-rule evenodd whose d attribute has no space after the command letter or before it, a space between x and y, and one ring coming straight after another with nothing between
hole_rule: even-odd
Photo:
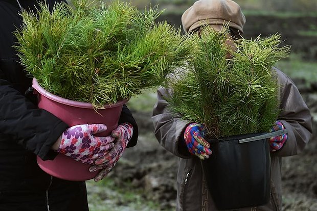
<instances>
[{"instance_id":1,"label":"black bucket together with the green pine seedlings in it","mask_svg":"<svg viewBox=\"0 0 317 211\"><path fill-rule=\"evenodd\" d=\"M286 57L280 35L234 41L225 45L228 28L204 28L193 35L199 54L186 70L169 77L172 113L206 127L209 159L201 161L209 191L218 209L253 207L269 201L270 153L267 139L279 115L277 75L272 70ZM231 58L226 58L228 51Z\"/></svg>"}]
</instances>

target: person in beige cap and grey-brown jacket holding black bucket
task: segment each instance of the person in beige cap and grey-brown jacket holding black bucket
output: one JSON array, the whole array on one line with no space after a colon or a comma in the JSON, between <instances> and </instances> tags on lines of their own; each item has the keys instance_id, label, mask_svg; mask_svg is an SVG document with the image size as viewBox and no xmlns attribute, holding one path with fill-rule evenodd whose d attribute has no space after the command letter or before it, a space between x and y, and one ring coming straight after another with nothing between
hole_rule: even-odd
<instances>
[{"instance_id":1,"label":"person in beige cap and grey-brown jacket holding black bucket","mask_svg":"<svg viewBox=\"0 0 317 211\"><path fill-rule=\"evenodd\" d=\"M240 6L230 0L199 0L182 16L186 33L200 33L202 27L206 26L219 31L224 25L228 25L231 32L227 42L229 47L234 46L231 45L230 38L239 39L243 35L244 23L245 16ZM230 56L227 54L227 58ZM269 198L265 204L255 205L251 202L252 206L231 207L230 210L282 210L282 157L296 155L302 151L312 134L311 115L297 87L279 69L274 68L272 71L278 76L281 112L271 131L286 129L287 134L264 140L268 145L270 159L267 162L270 164L267 171L270 174ZM165 149L179 157L176 210L221 210L222 207L216 206L216 197L213 197L215 195L209 191L206 172L201 165L202 160L214 159L212 155L215 153L203 137L204 125L172 114L166 101L172 93L168 88L160 87L157 90L158 99L153 108L152 121L157 140ZM210 169L209 173L213 174L213 169ZM250 175L252 173L254 172L250 172ZM221 188L221 184L219 187ZM230 203L228 201L228 204Z\"/></svg>"}]
</instances>

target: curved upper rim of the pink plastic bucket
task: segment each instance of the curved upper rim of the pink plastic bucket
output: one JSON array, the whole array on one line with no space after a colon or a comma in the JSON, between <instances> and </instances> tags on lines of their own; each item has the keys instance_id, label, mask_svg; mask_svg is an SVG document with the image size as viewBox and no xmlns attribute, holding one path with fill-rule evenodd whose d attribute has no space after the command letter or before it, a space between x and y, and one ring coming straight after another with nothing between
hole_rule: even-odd
<instances>
[{"instance_id":1,"label":"curved upper rim of the pink plastic bucket","mask_svg":"<svg viewBox=\"0 0 317 211\"><path fill-rule=\"evenodd\" d=\"M59 103L66 104L66 105L71 105L72 107L78 107L78 108L84 108L84 109L94 109L92 103L66 99L66 98L63 98L63 97L60 97L60 96L57 96L55 94L48 92L47 90L45 90L43 87L41 87L39 85L39 83L35 77L32 80L32 87L38 92L38 94L43 95L43 96L45 96L45 97L47 97L55 102L59 102ZM106 104L104 104L103 108L98 108L98 109L108 109L108 108L119 107L122 104L126 103L127 101L128 101L128 99L123 99L123 100L119 100L116 103L111 103L111 104L106 103Z\"/></svg>"}]
</instances>

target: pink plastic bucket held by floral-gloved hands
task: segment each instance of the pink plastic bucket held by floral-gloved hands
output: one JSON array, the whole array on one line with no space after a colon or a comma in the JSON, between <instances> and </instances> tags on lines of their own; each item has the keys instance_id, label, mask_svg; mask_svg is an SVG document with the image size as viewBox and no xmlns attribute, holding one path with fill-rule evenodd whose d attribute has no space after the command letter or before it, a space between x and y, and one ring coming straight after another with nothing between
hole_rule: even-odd
<instances>
[{"instance_id":1,"label":"pink plastic bucket held by floral-gloved hands","mask_svg":"<svg viewBox=\"0 0 317 211\"><path fill-rule=\"evenodd\" d=\"M44 109L70 126L78 124L102 123L107 130L98 136L108 136L118 125L123 104L127 100L105 105L105 109L93 109L91 103L78 102L56 96L44 90L33 78L33 88L38 92L38 108ZM72 181L93 179L99 172L89 172L89 165L77 162L70 157L58 154L53 161L43 161L37 157L37 164L48 174Z\"/></svg>"}]
</instances>

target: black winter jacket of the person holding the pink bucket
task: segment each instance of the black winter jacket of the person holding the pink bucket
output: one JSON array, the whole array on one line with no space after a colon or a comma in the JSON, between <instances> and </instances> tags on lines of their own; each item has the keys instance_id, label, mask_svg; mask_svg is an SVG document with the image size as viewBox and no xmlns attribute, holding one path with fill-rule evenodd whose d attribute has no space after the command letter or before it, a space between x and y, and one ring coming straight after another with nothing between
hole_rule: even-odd
<instances>
[{"instance_id":1,"label":"black winter jacket of the person holding the pink bucket","mask_svg":"<svg viewBox=\"0 0 317 211\"><path fill-rule=\"evenodd\" d=\"M50 8L61 0L46 0ZM35 0L20 0L34 10ZM0 0L0 210L87 210L85 182L65 181L43 172L36 155L53 160L51 146L68 128L51 113L38 109L36 96L27 95L32 78L18 63L13 32L21 24L16 0ZM138 127L124 105L119 123L133 125L128 147L138 139ZM78 207L77 207L78 206Z\"/></svg>"}]
</instances>

